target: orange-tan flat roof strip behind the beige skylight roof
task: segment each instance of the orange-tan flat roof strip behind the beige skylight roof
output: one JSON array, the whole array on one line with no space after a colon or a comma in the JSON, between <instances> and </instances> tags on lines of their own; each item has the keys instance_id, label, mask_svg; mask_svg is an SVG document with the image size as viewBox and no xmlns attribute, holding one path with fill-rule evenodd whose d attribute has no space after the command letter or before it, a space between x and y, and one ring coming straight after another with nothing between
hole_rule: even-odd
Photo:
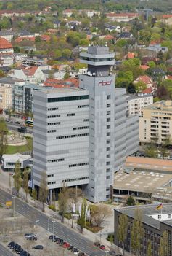
<instances>
[{"instance_id":1,"label":"orange-tan flat roof strip behind the beige skylight roof","mask_svg":"<svg viewBox=\"0 0 172 256\"><path fill-rule=\"evenodd\" d=\"M126 158L125 166L134 167L136 169L172 173L172 160L166 159L128 157Z\"/></svg>"}]
</instances>

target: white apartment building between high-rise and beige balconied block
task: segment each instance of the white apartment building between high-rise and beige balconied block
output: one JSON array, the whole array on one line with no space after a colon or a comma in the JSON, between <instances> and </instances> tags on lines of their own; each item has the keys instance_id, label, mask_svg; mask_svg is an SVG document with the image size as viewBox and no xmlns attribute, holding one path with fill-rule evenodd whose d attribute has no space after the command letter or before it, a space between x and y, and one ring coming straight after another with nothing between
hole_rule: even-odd
<instances>
[{"instance_id":1,"label":"white apartment building between high-rise and beige balconied block","mask_svg":"<svg viewBox=\"0 0 172 256\"><path fill-rule=\"evenodd\" d=\"M144 106L153 103L153 96L128 94L126 96L127 115L140 115Z\"/></svg>"}]
</instances>

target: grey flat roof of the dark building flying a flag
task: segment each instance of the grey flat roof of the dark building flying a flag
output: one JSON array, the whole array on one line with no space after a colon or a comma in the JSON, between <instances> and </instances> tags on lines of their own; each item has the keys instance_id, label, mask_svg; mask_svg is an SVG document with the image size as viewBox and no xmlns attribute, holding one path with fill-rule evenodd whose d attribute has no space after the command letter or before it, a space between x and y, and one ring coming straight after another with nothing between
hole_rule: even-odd
<instances>
[{"instance_id":1,"label":"grey flat roof of the dark building flying a flag","mask_svg":"<svg viewBox=\"0 0 172 256\"><path fill-rule=\"evenodd\" d=\"M161 211L156 210L157 205L160 203L156 204L147 204L147 205L142 205L142 206L128 206L128 207L123 207L120 209L115 209L115 211L120 212L122 214L126 214L128 217L134 218L134 212L136 207L142 210L142 222L152 226L153 228L157 228L160 230L160 222L164 222L167 225L172 225L172 220L155 220L149 215L153 214L161 214ZM172 203L163 203L163 209L162 209L162 214L168 214L171 213L172 209Z\"/></svg>"}]
</instances>

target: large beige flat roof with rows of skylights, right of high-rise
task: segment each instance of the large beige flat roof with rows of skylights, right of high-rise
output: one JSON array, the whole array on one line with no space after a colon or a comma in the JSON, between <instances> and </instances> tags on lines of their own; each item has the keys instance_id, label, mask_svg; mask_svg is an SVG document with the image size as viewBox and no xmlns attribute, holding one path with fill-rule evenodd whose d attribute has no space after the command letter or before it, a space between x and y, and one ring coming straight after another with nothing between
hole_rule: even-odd
<instances>
[{"instance_id":1,"label":"large beige flat roof with rows of skylights, right of high-rise","mask_svg":"<svg viewBox=\"0 0 172 256\"><path fill-rule=\"evenodd\" d=\"M162 187L172 180L172 174L160 174L147 171L118 171L114 174L115 190L129 190L143 193L153 193L157 187Z\"/></svg>"}]
</instances>

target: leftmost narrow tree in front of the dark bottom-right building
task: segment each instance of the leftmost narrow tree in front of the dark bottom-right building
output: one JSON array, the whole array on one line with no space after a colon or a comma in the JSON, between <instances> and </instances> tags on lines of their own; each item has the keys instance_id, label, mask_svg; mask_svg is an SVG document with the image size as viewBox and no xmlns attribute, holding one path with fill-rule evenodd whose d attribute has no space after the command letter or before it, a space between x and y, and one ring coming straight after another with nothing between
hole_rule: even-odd
<instances>
[{"instance_id":1,"label":"leftmost narrow tree in front of the dark bottom-right building","mask_svg":"<svg viewBox=\"0 0 172 256\"><path fill-rule=\"evenodd\" d=\"M124 255L124 244L127 237L127 228L128 228L128 217L126 214L120 214L119 223L118 223L118 241L123 245L123 255Z\"/></svg>"}]
</instances>

